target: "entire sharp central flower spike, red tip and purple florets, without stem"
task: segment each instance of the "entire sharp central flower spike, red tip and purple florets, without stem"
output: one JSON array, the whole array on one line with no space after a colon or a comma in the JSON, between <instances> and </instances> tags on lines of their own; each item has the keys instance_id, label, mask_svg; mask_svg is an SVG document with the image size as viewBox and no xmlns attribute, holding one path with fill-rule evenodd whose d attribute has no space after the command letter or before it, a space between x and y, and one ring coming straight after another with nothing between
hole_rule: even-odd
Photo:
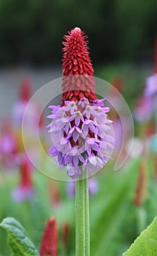
<instances>
[{"instance_id":1,"label":"entire sharp central flower spike, red tip and purple florets, without stem","mask_svg":"<svg viewBox=\"0 0 157 256\"><path fill-rule=\"evenodd\" d=\"M72 29L63 42L62 103L52 108L49 132L60 168L68 167L71 178L100 170L110 158L113 137L108 134L109 108L104 99L97 99L93 68L89 59L86 36L81 29Z\"/></svg>"}]
</instances>

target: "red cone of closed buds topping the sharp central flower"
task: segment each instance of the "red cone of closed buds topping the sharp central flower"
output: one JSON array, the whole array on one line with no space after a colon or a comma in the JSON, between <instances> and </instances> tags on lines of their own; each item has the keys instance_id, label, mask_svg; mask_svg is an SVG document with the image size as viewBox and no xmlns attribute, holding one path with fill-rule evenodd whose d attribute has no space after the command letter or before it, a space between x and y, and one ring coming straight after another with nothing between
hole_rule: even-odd
<instances>
[{"instance_id":1,"label":"red cone of closed buds topping the sharp central flower","mask_svg":"<svg viewBox=\"0 0 157 256\"><path fill-rule=\"evenodd\" d=\"M89 58L86 35L79 28L65 35L63 45L63 101L87 97L96 99L94 69ZM67 78L68 77L68 78Z\"/></svg>"}]
</instances>

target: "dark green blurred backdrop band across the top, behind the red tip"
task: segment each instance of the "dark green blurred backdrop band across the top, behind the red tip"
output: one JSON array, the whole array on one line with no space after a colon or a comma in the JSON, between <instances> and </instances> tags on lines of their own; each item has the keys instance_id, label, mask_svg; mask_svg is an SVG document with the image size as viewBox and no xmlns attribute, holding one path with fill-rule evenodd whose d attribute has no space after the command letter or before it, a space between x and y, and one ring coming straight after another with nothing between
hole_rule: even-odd
<instances>
[{"instance_id":1,"label":"dark green blurred backdrop band across the top, behind the red tip","mask_svg":"<svg viewBox=\"0 0 157 256\"><path fill-rule=\"evenodd\" d=\"M94 64L150 61L156 1L1 1L1 66L60 65L63 34L89 35Z\"/></svg>"}]
</instances>

